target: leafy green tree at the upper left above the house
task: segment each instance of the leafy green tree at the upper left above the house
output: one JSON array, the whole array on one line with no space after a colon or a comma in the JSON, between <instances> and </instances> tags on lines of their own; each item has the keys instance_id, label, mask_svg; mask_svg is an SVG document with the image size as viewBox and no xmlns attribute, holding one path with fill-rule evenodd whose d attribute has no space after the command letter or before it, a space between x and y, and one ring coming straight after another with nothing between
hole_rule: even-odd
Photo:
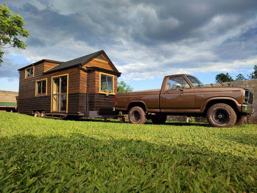
<instances>
[{"instance_id":1,"label":"leafy green tree at the upper left above the house","mask_svg":"<svg viewBox=\"0 0 257 193\"><path fill-rule=\"evenodd\" d=\"M20 48L25 49L27 46L20 37L28 37L29 31L25 30L23 26L26 24L24 19L18 14L9 9L9 6L4 3L0 5L0 66L3 63L3 48Z\"/></svg>"}]
</instances>

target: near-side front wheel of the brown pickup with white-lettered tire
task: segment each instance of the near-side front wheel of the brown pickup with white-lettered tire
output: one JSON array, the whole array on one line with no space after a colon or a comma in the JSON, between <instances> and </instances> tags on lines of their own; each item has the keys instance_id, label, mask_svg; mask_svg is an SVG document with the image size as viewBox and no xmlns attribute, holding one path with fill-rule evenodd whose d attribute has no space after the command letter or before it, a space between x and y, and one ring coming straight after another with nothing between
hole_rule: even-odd
<instances>
[{"instance_id":1,"label":"near-side front wheel of the brown pickup with white-lettered tire","mask_svg":"<svg viewBox=\"0 0 257 193\"><path fill-rule=\"evenodd\" d=\"M217 103L207 111L207 120L213 127L233 127L236 122L234 109L224 103Z\"/></svg>"}]
</instances>

